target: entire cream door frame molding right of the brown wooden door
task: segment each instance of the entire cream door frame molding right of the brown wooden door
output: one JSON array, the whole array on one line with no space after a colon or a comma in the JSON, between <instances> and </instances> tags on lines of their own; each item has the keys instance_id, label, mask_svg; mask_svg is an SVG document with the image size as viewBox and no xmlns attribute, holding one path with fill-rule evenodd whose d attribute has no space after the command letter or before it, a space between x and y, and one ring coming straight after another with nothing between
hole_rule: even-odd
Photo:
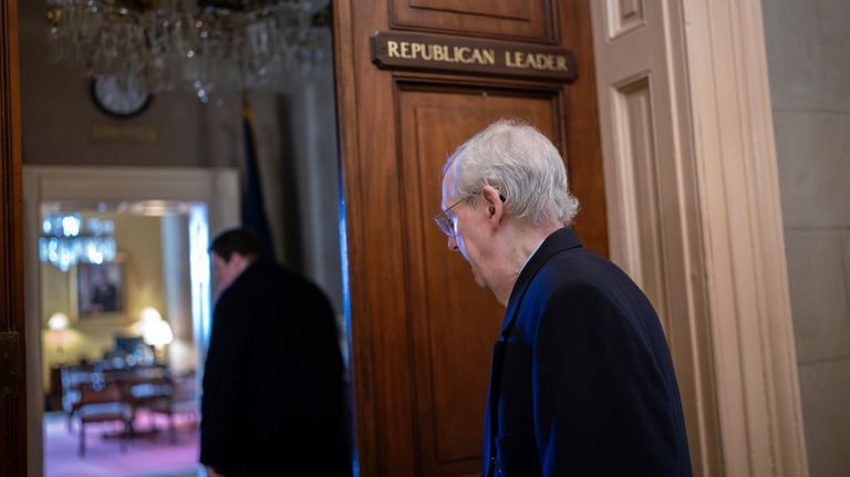
<instances>
[{"instance_id":1,"label":"entire cream door frame molding right of the brown wooden door","mask_svg":"<svg viewBox=\"0 0 850 477\"><path fill-rule=\"evenodd\" d=\"M592 1L611 253L671 342L701 476L806 476L760 2Z\"/></svg>"}]
</instances>

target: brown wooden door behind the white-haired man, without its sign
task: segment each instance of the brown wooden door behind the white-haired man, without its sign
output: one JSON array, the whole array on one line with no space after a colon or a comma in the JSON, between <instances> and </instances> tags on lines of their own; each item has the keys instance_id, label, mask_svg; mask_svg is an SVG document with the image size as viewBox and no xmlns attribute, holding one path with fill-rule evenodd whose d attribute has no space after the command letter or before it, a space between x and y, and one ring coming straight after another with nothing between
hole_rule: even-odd
<instances>
[{"instance_id":1,"label":"brown wooden door behind the white-haired man, without its sign","mask_svg":"<svg viewBox=\"0 0 850 477\"><path fill-rule=\"evenodd\" d=\"M478 475L504 308L431 219L442 167L489 123L530 122L567 159L579 235L608 253L589 0L341 0L334 9L361 475ZM379 69L376 31L563 46L578 79Z\"/></svg>"}]
</instances>

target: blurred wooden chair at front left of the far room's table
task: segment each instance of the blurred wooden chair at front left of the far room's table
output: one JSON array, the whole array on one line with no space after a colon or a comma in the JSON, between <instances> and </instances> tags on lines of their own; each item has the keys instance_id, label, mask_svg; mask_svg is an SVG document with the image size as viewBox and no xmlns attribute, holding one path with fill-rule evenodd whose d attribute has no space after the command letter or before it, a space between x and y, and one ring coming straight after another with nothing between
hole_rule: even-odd
<instances>
[{"instance_id":1,"label":"blurred wooden chair at front left of the far room's table","mask_svg":"<svg viewBox=\"0 0 850 477\"><path fill-rule=\"evenodd\" d=\"M85 457L85 425L91 423L118 422L121 452L126 450L126 440L133 433L133 407L124 398L123 387L115 383L94 380L82 384L80 403L75 415L80 419L80 457Z\"/></svg>"}]
</instances>

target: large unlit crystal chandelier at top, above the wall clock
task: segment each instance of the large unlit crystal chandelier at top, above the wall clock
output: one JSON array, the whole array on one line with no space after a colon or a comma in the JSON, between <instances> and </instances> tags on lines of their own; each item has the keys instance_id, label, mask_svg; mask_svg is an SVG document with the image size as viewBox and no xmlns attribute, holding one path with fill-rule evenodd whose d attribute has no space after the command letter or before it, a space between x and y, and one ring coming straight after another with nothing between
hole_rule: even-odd
<instances>
[{"instance_id":1,"label":"large unlit crystal chandelier at top, above the wall clock","mask_svg":"<svg viewBox=\"0 0 850 477\"><path fill-rule=\"evenodd\" d=\"M142 93L282 90L328 56L328 0L46 0L53 61Z\"/></svg>"}]
</instances>

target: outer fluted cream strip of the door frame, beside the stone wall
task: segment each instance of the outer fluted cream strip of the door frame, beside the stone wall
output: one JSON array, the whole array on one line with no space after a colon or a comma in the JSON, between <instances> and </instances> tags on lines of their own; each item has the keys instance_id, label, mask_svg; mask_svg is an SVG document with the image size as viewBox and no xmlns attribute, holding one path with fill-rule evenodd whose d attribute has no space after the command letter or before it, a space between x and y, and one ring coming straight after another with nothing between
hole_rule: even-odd
<instances>
[{"instance_id":1,"label":"outer fluted cream strip of the door frame, beside the stone wall","mask_svg":"<svg viewBox=\"0 0 850 477\"><path fill-rule=\"evenodd\" d=\"M726 470L805 476L761 3L683 3Z\"/></svg>"}]
</instances>

